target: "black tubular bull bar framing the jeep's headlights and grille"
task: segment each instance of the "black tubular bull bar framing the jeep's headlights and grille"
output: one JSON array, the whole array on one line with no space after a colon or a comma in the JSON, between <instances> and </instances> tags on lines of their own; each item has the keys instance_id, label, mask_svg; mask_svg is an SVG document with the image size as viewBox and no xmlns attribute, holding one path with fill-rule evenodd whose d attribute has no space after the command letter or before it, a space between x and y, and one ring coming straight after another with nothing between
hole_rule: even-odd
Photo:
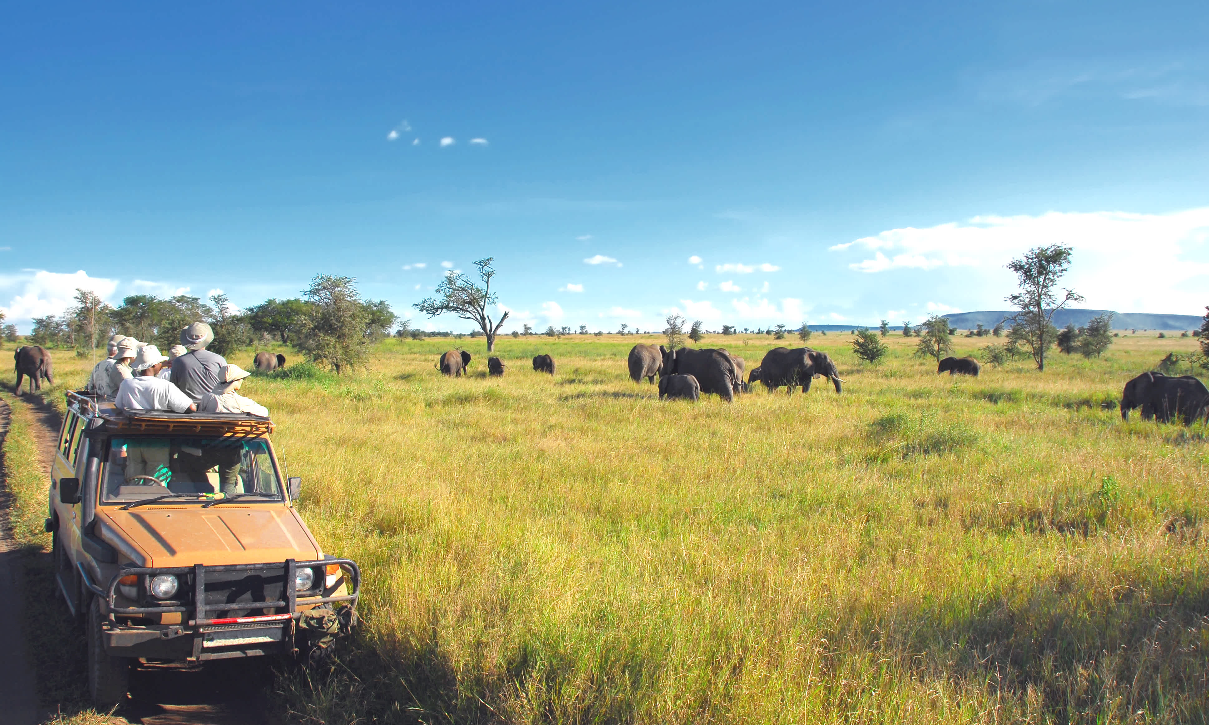
<instances>
[{"instance_id":1,"label":"black tubular bull bar framing the jeep's headlights and grille","mask_svg":"<svg viewBox=\"0 0 1209 725\"><path fill-rule=\"evenodd\" d=\"M204 627L213 625L236 625L236 624L253 624L253 622L274 622L293 620L295 617L297 604L300 602L299 592L294 588L295 575L299 569L311 568L325 570L326 567L339 566L341 572L347 575L351 585L352 592L340 596L340 597L324 597L322 596L325 587L324 578L317 578L318 593L319 596L306 596L302 592L301 603L303 605L313 607L319 604L331 604L337 602L352 602L354 605L357 598L360 594L361 588L361 572L357 567L357 563L351 559L342 558L330 558L323 561L312 562L297 562L294 559L285 559L284 563L279 564L280 570L284 574L282 581L282 594L283 599L266 601L266 602L224 602L224 603L207 603L206 602L206 579L207 574L219 574L227 572L265 572L271 569L277 569L278 564L220 564L220 566L206 566L206 564L193 564L192 567L162 567L162 568L146 568L146 567L129 567L117 572L109 580L109 586L102 588L97 586L88 572L85 569L83 564L77 564L77 569L83 580L83 584L88 590L97 594L98 597L104 597L105 602L109 604L109 622L111 625L117 624L117 615L143 615L143 614L166 614L179 611L181 614L192 614L193 619L187 621L190 627ZM117 586L118 581L123 576L131 575L147 575L155 576L157 574L173 574L177 576L187 575L192 576L192 602L183 602L169 604L166 602L163 607L117 607ZM181 580L184 585L184 580ZM339 585L337 587L339 588ZM308 590L311 591L311 590ZM177 594L178 597L180 594ZM268 614L258 616L238 616L238 617L219 617L210 619L209 614L212 611L230 611L230 610L254 610L254 609L283 609L284 613L280 614ZM184 619L184 617L183 617Z\"/></svg>"}]
</instances>

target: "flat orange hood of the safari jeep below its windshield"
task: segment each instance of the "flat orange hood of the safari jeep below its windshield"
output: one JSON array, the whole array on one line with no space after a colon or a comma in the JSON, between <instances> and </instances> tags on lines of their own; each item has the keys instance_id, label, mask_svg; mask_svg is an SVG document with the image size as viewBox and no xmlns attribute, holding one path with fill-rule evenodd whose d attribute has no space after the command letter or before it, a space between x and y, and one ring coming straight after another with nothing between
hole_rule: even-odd
<instances>
[{"instance_id":1,"label":"flat orange hood of the safari jeep below its windshield","mask_svg":"<svg viewBox=\"0 0 1209 725\"><path fill-rule=\"evenodd\" d=\"M163 506L98 510L112 532L146 556L145 567L254 564L320 558L319 545L294 509L261 506ZM110 541L118 550L129 550Z\"/></svg>"}]
</instances>

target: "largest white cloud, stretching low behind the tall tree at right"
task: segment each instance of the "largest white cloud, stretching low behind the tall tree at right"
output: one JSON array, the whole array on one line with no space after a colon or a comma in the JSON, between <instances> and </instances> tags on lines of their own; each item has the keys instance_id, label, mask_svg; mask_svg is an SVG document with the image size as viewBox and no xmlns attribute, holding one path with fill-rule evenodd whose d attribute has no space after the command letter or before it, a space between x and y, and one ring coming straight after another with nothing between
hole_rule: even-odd
<instances>
[{"instance_id":1,"label":"largest white cloud, stretching low behind the tall tree at right","mask_svg":"<svg viewBox=\"0 0 1209 725\"><path fill-rule=\"evenodd\" d=\"M1048 211L1037 216L974 216L966 222L887 230L832 249L873 251L872 257L849 265L860 272L964 267L968 268L962 272L967 286L1011 291L1016 280L1003 265L1030 248L1068 244L1074 255L1060 286L1084 295L1081 306L1192 314L1203 312L1203 290L1209 288L1207 240L1209 207L1169 214ZM1151 284L1153 280L1162 284ZM990 309L1002 304L997 302Z\"/></svg>"}]
</instances>

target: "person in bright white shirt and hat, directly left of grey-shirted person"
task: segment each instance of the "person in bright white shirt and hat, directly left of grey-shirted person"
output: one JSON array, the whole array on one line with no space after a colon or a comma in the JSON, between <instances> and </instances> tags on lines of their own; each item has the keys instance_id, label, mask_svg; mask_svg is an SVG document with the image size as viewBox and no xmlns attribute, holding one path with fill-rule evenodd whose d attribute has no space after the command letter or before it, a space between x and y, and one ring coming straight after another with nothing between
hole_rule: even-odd
<instances>
[{"instance_id":1,"label":"person in bright white shirt and hat, directly left of grey-shirted person","mask_svg":"<svg viewBox=\"0 0 1209 725\"><path fill-rule=\"evenodd\" d=\"M122 411L193 412L197 406L172 382L156 377L168 358L154 344L139 348L132 365L134 377L122 381L114 402ZM139 486L167 486L172 480L167 440L131 439L126 446L126 481Z\"/></svg>"}]
</instances>

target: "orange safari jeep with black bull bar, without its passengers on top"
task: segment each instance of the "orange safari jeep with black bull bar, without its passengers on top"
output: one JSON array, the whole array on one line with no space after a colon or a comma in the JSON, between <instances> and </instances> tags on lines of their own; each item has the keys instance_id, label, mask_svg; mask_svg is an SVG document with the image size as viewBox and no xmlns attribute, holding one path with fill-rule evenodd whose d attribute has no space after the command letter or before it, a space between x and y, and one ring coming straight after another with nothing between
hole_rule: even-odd
<instances>
[{"instance_id":1,"label":"orange safari jeep with black bull bar, without its passengers on top","mask_svg":"<svg viewBox=\"0 0 1209 725\"><path fill-rule=\"evenodd\" d=\"M360 572L302 523L271 420L66 399L46 529L96 704L135 662L314 656L355 624Z\"/></svg>"}]
</instances>

